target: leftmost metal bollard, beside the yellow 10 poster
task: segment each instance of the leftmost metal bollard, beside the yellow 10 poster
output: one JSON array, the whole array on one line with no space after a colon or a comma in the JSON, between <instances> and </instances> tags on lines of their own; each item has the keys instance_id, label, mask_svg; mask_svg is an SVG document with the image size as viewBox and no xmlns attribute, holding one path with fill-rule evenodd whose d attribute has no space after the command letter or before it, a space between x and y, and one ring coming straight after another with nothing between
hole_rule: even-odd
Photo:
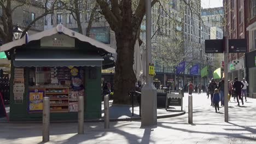
<instances>
[{"instance_id":1,"label":"leftmost metal bollard, beside the yellow 10 poster","mask_svg":"<svg viewBox=\"0 0 256 144\"><path fill-rule=\"evenodd\" d=\"M50 98L43 98L43 142L48 142L50 140L49 135L49 125L50 125Z\"/></svg>"}]
</instances>

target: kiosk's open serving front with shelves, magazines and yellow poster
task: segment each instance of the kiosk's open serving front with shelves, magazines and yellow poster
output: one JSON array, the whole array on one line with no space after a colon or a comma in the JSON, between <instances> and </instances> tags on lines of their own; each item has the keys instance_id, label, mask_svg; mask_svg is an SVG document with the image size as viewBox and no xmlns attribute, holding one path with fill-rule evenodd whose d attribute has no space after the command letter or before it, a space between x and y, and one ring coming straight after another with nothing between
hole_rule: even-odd
<instances>
[{"instance_id":1,"label":"kiosk's open serving front with shelves, magazines and yellow poster","mask_svg":"<svg viewBox=\"0 0 256 144\"><path fill-rule=\"evenodd\" d=\"M84 96L83 67L31 67L29 112L42 112L43 97L50 98L51 112L77 112Z\"/></svg>"}]
</instances>

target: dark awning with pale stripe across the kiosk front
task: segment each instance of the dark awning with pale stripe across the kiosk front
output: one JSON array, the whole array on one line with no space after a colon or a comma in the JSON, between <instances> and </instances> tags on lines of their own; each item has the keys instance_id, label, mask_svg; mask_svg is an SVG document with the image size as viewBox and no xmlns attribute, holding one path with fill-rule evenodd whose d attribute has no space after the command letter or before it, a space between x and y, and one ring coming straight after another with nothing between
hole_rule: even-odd
<instances>
[{"instance_id":1,"label":"dark awning with pale stripe across the kiosk front","mask_svg":"<svg viewBox=\"0 0 256 144\"><path fill-rule=\"evenodd\" d=\"M104 59L100 55L81 51L19 51L15 55L14 67L101 67Z\"/></svg>"}]
</instances>

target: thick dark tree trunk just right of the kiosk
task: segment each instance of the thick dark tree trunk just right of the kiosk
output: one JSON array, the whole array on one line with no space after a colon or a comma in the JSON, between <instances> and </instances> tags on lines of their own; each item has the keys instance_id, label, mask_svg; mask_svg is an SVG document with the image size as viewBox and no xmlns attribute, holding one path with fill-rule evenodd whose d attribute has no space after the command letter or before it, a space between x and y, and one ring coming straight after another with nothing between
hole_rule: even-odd
<instances>
[{"instance_id":1,"label":"thick dark tree trunk just right of the kiosk","mask_svg":"<svg viewBox=\"0 0 256 144\"><path fill-rule=\"evenodd\" d=\"M114 75L114 104L130 104L129 92L135 89L136 82L133 53L137 29L132 27L131 1L124 1L123 12L124 18L121 19L119 29L115 31L117 61Z\"/></svg>"}]
</instances>

